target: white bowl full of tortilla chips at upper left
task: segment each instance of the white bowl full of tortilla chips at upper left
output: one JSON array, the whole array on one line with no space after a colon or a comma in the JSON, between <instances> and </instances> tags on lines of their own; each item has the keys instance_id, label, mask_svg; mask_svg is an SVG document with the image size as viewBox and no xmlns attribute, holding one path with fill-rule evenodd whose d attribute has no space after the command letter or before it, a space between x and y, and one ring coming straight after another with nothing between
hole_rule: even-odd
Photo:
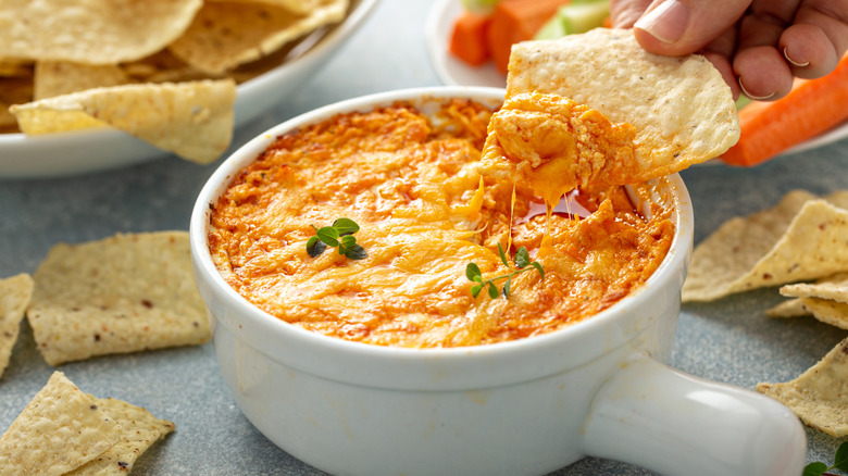
<instances>
[{"instance_id":1,"label":"white bowl full of tortilla chips at upper left","mask_svg":"<svg viewBox=\"0 0 848 476\"><path fill-rule=\"evenodd\" d=\"M317 71L377 0L77 3L52 9L65 12L60 21L27 2L0 7L2 42L14 45L0 58L0 177L64 176L167 153L211 162L234 127Z\"/></svg>"}]
</instances>

